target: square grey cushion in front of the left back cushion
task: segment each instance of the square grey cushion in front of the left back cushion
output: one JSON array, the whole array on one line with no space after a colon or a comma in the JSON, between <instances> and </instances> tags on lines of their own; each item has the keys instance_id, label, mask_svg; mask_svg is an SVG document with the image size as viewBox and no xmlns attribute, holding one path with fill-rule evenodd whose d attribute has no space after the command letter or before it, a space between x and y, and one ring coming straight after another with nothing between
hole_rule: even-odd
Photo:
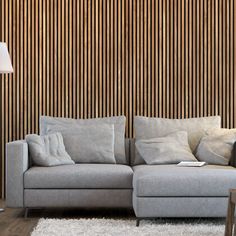
<instances>
[{"instance_id":1,"label":"square grey cushion in front of the left back cushion","mask_svg":"<svg viewBox=\"0 0 236 236\"><path fill-rule=\"evenodd\" d=\"M76 163L115 164L114 125L53 125L49 133L60 131L65 147Z\"/></svg>"}]
</instances>

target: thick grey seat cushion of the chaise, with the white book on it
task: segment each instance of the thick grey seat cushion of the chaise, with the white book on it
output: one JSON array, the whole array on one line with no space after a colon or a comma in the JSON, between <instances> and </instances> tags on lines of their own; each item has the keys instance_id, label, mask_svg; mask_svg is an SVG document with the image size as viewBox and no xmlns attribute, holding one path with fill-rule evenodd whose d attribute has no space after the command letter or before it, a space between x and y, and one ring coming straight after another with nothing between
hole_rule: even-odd
<instances>
[{"instance_id":1,"label":"thick grey seat cushion of the chaise, with the white book on it","mask_svg":"<svg viewBox=\"0 0 236 236\"><path fill-rule=\"evenodd\" d=\"M231 166L139 165L133 170L137 197L225 197L236 188L236 169Z\"/></svg>"}]
</instances>

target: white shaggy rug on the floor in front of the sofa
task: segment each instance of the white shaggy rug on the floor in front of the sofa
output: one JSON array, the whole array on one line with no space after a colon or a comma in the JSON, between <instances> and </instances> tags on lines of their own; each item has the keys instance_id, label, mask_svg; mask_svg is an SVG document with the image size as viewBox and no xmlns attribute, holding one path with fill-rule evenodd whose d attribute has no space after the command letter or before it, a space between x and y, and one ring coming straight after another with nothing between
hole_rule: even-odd
<instances>
[{"instance_id":1,"label":"white shaggy rug on the floor in front of the sofa","mask_svg":"<svg viewBox=\"0 0 236 236\"><path fill-rule=\"evenodd\" d=\"M224 221L219 220L135 220L40 219L32 236L222 236Z\"/></svg>"}]
</instances>

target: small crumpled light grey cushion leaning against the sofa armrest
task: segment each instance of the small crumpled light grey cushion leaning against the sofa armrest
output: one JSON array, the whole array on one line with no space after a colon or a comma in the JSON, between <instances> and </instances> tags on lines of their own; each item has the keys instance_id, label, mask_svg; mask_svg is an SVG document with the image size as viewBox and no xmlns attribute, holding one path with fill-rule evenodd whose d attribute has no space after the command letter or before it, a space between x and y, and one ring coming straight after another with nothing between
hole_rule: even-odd
<instances>
[{"instance_id":1,"label":"small crumpled light grey cushion leaning against the sofa armrest","mask_svg":"<svg viewBox=\"0 0 236 236\"><path fill-rule=\"evenodd\" d=\"M30 156L33 163L38 166L56 166L74 164L65 150L63 138L60 133L39 136L26 135Z\"/></svg>"}]
</instances>

